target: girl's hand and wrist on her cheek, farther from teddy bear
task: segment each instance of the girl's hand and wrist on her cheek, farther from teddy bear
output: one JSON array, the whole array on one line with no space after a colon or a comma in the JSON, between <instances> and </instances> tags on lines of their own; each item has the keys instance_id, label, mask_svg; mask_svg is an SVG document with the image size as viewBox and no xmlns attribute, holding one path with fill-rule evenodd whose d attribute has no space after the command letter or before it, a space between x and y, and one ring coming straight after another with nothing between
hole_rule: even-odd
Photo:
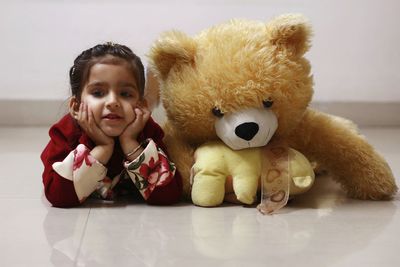
<instances>
[{"instance_id":1,"label":"girl's hand and wrist on her cheek, farther from teddy bear","mask_svg":"<svg viewBox=\"0 0 400 267\"><path fill-rule=\"evenodd\" d=\"M89 138L98 146L114 146L114 139L107 136L94 120L93 112L86 103L81 103L76 116L79 126Z\"/></svg>"}]
</instances>

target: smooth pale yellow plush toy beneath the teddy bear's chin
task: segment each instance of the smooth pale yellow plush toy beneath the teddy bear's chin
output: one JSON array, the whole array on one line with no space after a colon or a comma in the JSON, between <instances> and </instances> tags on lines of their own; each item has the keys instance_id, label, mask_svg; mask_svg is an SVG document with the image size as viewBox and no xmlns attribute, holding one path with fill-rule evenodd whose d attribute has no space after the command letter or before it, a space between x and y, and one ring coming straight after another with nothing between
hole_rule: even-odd
<instances>
[{"instance_id":1,"label":"smooth pale yellow plush toy beneath the teddy bear's chin","mask_svg":"<svg viewBox=\"0 0 400 267\"><path fill-rule=\"evenodd\" d=\"M262 148L234 151L222 142L200 146L195 153L192 175L192 201L199 206L217 206L229 198L252 204L262 172ZM298 151L289 150L290 194L307 191L314 182L314 172L308 160ZM232 177L233 188L225 190L226 178ZM227 194L225 196L225 193Z\"/></svg>"}]
</instances>

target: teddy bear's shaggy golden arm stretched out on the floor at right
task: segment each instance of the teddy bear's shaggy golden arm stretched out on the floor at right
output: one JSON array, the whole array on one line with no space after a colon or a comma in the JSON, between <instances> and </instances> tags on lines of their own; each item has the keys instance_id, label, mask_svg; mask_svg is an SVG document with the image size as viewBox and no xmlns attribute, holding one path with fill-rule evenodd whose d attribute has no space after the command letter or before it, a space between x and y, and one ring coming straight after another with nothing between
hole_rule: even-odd
<instances>
[{"instance_id":1,"label":"teddy bear's shaggy golden arm stretched out on the floor at right","mask_svg":"<svg viewBox=\"0 0 400 267\"><path fill-rule=\"evenodd\" d=\"M352 127L308 109L290 137L291 145L333 173L350 197L389 199L397 191L386 161Z\"/></svg>"}]
</instances>

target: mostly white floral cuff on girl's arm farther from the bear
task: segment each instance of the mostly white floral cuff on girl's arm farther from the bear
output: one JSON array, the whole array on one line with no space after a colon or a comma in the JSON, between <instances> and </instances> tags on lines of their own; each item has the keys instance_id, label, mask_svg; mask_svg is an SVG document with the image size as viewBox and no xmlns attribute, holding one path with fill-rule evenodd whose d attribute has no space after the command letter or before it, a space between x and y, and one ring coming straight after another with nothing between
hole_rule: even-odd
<instances>
[{"instance_id":1,"label":"mostly white floral cuff on girl's arm farther from the bear","mask_svg":"<svg viewBox=\"0 0 400 267\"><path fill-rule=\"evenodd\" d=\"M90 155L90 150L82 144L71 151L62 162L53 163L53 169L74 183L81 203L96 190L107 174L107 168Z\"/></svg>"}]
</instances>

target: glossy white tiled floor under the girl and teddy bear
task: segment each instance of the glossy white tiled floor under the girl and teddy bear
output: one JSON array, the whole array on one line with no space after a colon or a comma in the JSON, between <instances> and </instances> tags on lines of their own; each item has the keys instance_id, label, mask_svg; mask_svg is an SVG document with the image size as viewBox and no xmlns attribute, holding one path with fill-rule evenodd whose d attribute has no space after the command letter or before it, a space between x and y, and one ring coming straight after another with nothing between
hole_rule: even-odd
<instances>
[{"instance_id":1,"label":"glossy white tiled floor under the girl and teddy bear","mask_svg":"<svg viewBox=\"0 0 400 267\"><path fill-rule=\"evenodd\" d=\"M400 128L362 129L400 184ZM400 197L347 199L329 177L282 212L122 202L51 208L45 128L0 128L0 266L400 266Z\"/></svg>"}]
</instances>

